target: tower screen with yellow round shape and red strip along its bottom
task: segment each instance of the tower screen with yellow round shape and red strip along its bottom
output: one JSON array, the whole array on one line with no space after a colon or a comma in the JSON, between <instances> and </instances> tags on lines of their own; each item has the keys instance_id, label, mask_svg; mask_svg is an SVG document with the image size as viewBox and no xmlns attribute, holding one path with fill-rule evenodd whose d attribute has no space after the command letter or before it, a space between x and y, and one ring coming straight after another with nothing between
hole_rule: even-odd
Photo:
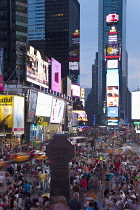
<instances>
[{"instance_id":1,"label":"tower screen with yellow round shape and red strip along its bottom","mask_svg":"<svg viewBox=\"0 0 140 210\"><path fill-rule=\"evenodd\" d=\"M120 58L120 47L118 44L106 46L106 58Z\"/></svg>"}]
</instances>

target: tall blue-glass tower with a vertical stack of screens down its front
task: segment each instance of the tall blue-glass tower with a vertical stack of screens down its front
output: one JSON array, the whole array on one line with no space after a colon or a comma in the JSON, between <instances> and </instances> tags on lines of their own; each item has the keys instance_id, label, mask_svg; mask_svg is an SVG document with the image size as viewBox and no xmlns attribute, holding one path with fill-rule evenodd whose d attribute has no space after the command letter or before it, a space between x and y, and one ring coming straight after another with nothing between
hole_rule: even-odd
<instances>
[{"instance_id":1,"label":"tall blue-glass tower with a vertical stack of screens down its front","mask_svg":"<svg viewBox=\"0 0 140 210\"><path fill-rule=\"evenodd\" d=\"M127 121L126 0L99 0L98 27L100 124L118 125Z\"/></svg>"}]
</instances>

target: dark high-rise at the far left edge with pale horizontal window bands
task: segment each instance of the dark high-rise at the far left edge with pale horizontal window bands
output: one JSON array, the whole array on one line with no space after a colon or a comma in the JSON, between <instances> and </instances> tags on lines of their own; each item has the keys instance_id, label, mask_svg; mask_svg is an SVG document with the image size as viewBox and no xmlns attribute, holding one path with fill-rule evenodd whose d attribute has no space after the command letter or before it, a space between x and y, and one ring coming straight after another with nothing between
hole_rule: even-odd
<instances>
[{"instance_id":1,"label":"dark high-rise at the far left edge with pale horizontal window bands","mask_svg":"<svg viewBox=\"0 0 140 210\"><path fill-rule=\"evenodd\" d=\"M0 0L0 47L5 81L25 78L27 26L27 0Z\"/></svg>"}]
</instances>

